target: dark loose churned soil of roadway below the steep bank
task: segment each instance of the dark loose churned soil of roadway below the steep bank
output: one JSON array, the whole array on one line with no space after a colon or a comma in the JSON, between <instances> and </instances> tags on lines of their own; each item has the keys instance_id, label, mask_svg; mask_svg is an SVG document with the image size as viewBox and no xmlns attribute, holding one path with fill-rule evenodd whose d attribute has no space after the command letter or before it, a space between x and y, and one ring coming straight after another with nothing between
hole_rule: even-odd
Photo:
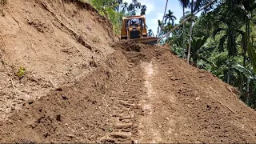
<instances>
[{"instance_id":1,"label":"dark loose churned soil of roadway below the steep bank","mask_svg":"<svg viewBox=\"0 0 256 144\"><path fill-rule=\"evenodd\" d=\"M121 41L74 86L25 102L1 142L255 142L233 88L160 46Z\"/></svg>"}]
</instances>

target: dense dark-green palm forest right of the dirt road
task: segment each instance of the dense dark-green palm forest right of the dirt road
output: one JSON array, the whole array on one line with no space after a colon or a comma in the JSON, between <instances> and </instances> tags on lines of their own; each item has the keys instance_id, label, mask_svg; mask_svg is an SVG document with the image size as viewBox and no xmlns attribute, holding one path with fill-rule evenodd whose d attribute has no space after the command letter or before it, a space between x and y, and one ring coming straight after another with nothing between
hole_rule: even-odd
<instances>
[{"instance_id":1,"label":"dense dark-green palm forest right of the dirt road","mask_svg":"<svg viewBox=\"0 0 256 144\"><path fill-rule=\"evenodd\" d=\"M192 15L183 27L167 37L174 54L186 58L198 68L210 71L224 82L238 88L240 98L248 106L256 108L256 53L254 32L256 24L256 2L252 0L218 0L197 17L194 12L210 0L179 0L184 15L179 22ZM170 11L166 17L170 17ZM158 35L170 30L170 22L158 21ZM171 26L178 24L171 23Z\"/></svg>"}]
</instances>

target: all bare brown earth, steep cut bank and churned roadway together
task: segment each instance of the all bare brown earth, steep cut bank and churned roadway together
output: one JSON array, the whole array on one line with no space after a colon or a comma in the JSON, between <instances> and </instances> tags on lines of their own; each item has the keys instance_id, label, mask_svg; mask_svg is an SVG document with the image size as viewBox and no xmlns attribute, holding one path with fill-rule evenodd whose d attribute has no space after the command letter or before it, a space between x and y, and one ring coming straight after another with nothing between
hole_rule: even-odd
<instances>
[{"instance_id":1,"label":"all bare brown earth, steep cut bank and churned roadway together","mask_svg":"<svg viewBox=\"0 0 256 144\"><path fill-rule=\"evenodd\" d=\"M0 142L256 142L234 87L165 46L118 42L89 4L14 0L3 13Z\"/></svg>"}]
</instances>

